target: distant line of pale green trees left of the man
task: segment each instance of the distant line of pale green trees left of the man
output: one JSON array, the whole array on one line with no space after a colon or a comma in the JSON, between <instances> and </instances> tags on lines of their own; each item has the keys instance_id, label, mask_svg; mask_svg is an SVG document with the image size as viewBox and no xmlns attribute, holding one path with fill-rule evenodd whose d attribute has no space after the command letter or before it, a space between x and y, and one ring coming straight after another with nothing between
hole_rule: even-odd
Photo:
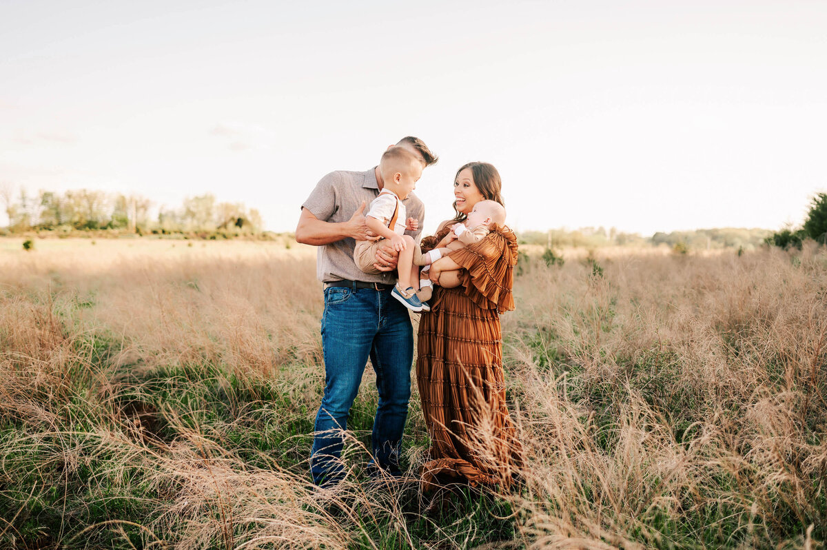
<instances>
[{"instance_id":1,"label":"distant line of pale green trees left of the man","mask_svg":"<svg viewBox=\"0 0 827 550\"><path fill-rule=\"evenodd\" d=\"M64 193L26 189L13 193L0 186L0 204L8 217L8 232L93 231L145 233L261 232L263 222L256 208L243 203L218 203L213 194L184 199L181 208L160 208L151 215L152 201L140 195L110 194L92 189Z\"/></svg>"}]
</instances>

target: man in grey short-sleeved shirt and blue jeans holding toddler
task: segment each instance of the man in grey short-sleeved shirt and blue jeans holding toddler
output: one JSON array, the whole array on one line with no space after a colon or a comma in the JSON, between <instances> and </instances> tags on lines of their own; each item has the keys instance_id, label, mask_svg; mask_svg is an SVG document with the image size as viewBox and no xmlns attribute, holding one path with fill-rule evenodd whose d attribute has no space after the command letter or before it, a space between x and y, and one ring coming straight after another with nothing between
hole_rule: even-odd
<instances>
[{"instance_id":1,"label":"man in grey short-sleeved shirt and blue jeans holding toddler","mask_svg":"<svg viewBox=\"0 0 827 550\"><path fill-rule=\"evenodd\" d=\"M426 166L437 162L437 156L417 137L404 137L396 146L417 155ZM332 172L302 204L296 227L296 241L319 247L316 273L324 283L325 388L310 456L316 485L332 485L342 479L339 457L344 430L368 357L379 390L371 465L391 475L401 474L399 452L408 417L414 333L408 309L390 294L396 280L397 253L390 246L380 246L375 264L379 275L366 274L353 261L356 241L379 238L367 228L364 210L383 186L378 166L365 172ZM407 232L417 240L423 227L423 203L414 194L403 203L408 216L419 221L418 230Z\"/></svg>"}]
</instances>

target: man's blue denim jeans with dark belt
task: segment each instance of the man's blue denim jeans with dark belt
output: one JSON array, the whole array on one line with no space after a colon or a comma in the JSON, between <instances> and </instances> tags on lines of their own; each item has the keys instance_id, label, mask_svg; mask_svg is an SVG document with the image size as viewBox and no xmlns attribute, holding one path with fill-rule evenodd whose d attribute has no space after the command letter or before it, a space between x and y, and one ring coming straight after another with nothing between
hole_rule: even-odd
<instances>
[{"instance_id":1,"label":"man's blue denim jeans with dark belt","mask_svg":"<svg viewBox=\"0 0 827 550\"><path fill-rule=\"evenodd\" d=\"M310 455L313 483L336 483L342 477L339 457L347 415L369 356L379 390L371 462L399 474L414 361L414 332L408 309L390 295L390 289L324 289L322 349L325 386Z\"/></svg>"}]
</instances>

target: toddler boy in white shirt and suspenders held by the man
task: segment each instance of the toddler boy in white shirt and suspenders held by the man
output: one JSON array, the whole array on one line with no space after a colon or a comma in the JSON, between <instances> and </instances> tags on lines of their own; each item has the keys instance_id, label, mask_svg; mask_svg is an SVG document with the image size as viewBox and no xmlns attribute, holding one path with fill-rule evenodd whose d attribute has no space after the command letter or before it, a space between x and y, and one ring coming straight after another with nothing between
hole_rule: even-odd
<instances>
[{"instance_id":1,"label":"toddler boy in white shirt and suspenders held by the man","mask_svg":"<svg viewBox=\"0 0 827 550\"><path fill-rule=\"evenodd\" d=\"M390 241L390 246L399 252L396 267L399 281L391 294L413 311L423 310L423 304L413 287L419 272L418 265L414 264L414 253L418 252L417 256L422 253L414 242L414 237L405 235L404 232L406 229L416 231L419 222L416 218L405 219L406 211L402 201L416 188L423 168L423 161L403 147L391 147L385 151L379 163L384 186L379 196L370 201L365 215L370 231ZM353 261L359 269L371 274L380 273L373 265L379 243L380 241L356 242ZM428 309L427 306L425 308Z\"/></svg>"}]
</instances>

